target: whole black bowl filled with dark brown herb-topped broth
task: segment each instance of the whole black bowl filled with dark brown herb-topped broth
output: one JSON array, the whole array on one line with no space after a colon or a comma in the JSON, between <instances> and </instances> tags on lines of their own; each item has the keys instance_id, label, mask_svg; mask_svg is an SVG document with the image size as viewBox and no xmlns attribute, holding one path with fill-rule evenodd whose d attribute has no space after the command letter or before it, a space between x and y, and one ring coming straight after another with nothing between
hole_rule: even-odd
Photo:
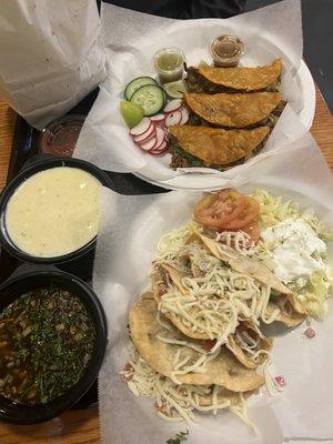
<instances>
[{"instance_id":1,"label":"whole black bowl filled with dark brown herb-topped broth","mask_svg":"<svg viewBox=\"0 0 333 444\"><path fill-rule=\"evenodd\" d=\"M107 347L95 293L60 271L0 286L0 421L33 424L75 404L93 384Z\"/></svg>"}]
</instances>

